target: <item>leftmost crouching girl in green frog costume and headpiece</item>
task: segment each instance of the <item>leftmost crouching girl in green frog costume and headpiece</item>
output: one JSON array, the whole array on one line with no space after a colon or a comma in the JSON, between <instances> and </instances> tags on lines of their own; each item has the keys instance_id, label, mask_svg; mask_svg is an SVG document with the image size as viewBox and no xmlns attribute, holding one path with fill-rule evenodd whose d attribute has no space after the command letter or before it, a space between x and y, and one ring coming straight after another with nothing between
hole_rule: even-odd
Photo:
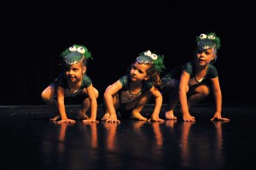
<instances>
[{"instance_id":1,"label":"leftmost crouching girl in green frog costume and headpiece","mask_svg":"<svg viewBox=\"0 0 256 170\"><path fill-rule=\"evenodd\" d=\"M43 101L55 110L55 116L51 121L59 123L74 123L75 120L69 119L65 111L64 98L82 96L83 104L79 109L77 119L83 122L96 121L98 91L93 87L90 77L86 72L87 59L92 59L90 52L83 45L73 45L61 53L63 59L63 71L45 88L41 94ZM85 113L90 108L90 117Z\"/></svg>"}]
</instances>

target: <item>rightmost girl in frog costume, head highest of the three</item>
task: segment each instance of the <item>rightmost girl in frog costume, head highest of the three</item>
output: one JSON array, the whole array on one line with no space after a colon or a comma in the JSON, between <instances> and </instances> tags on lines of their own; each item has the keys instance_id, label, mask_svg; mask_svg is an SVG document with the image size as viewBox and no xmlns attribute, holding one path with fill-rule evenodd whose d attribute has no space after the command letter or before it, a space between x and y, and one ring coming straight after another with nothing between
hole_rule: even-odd
<instances>
[{"instance_id":1,"label":"rightmost girl in frog costume, head highest of the three","mask_svg":"<svg viewBox=\"0 0 256 170\"><path fill-rule=\"evenodd\" d=\"M195 117L189 113L189 107L197 104L210 94L207 81L212 84L216 111L211 121L230 121L221 116L222 94L218 82L218 71L212 64L217 59L220 47L219 37L215 33L201 34L196 37L197 47L195 59L169 71L162 81L162 92L168 97L166 119L177 119L173 110L180 101L183 121L195 122Z\"/></svg>"}]
</instances>

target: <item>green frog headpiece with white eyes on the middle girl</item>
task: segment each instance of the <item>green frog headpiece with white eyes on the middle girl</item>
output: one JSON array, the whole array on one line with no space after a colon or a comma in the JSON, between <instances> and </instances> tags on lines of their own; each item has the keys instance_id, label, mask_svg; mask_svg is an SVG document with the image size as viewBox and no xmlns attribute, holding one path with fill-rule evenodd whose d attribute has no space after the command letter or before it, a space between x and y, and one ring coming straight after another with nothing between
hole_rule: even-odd
<instances>
[{"instance_id":1,"label":"green frog headpiece with white eyes on the middle girl","mask_svg":"<svg viewBox=\"0 0 256 170\"><path fill-rule=\"evenodd\" d=\"M158 72L166 69L164 65L164 55L160 56L154 53L151 53L150 50L145 51L137 57L137 62L144 65L154 65L154 69Z\"/></svg>"}]
</instances>

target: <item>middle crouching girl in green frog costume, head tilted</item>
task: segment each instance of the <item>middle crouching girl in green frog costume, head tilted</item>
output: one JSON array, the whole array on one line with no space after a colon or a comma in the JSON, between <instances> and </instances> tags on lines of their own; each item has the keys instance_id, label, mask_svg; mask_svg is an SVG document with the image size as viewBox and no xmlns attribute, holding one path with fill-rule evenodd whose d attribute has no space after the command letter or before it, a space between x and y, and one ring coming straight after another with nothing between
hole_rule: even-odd
<instances>
[{"instance_id":1,"label":"middle crouching girl in green frog costume, head tilted","mask_svg":"<svg viewBox=\"0 0 256 170\"><path fill-rule=\"evenodd\" d=\"M106 113L102 121L119 122L116 110L122 114L131 114L130 118L140 121L148 119L140 114L144 105L154 96L154 111L149 121L164 122L160 119L162 95L157 87L160 86L160 72L165 68L163 56L151 53L149 50L139 54L131 65L129 74L120 77L117 82L108 86L104 93Z\"/></svg>"}]
</instances>

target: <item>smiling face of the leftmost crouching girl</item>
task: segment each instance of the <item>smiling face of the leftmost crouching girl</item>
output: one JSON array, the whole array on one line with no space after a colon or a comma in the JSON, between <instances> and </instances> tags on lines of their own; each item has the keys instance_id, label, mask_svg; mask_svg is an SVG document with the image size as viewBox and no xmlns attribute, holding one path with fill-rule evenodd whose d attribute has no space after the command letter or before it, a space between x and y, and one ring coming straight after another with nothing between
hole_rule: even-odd
<instances>
[{"instance_id":1,"label":"smiling face of the leftmost crouching girl","mask_svg":"<svg viewBox=\"0 0 256 170\"><path fill-rule=\"evenodd\" d=\"M81 80L84 72L85 72L85 67L82 64L82 62L79 62L75 65L67 65L66 66L66 76L67 76L67 81L70 82L79 82Z\"/></svg>"}]
</instances>

